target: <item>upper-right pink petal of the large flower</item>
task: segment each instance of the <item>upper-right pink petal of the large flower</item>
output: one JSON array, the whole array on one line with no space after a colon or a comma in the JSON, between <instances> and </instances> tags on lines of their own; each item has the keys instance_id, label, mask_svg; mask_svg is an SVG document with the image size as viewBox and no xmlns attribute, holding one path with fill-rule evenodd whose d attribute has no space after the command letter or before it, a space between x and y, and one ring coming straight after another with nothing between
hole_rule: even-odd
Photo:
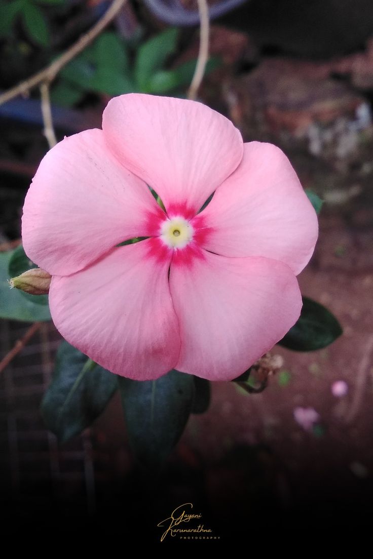
<instances>
[{"instance_id":1,"label":"upper-right pink petal of the large flower","mask_svg":"<svg viewBox=\"0 0 373 559\"><path fill-rule=\"evenodd\" d=\"M272 144L244 144L242 162L197 216L204 248L225 256L263 256L295 274L308 263L318 236L317 215L289 159Z\"/></svg>"}]
</instances>

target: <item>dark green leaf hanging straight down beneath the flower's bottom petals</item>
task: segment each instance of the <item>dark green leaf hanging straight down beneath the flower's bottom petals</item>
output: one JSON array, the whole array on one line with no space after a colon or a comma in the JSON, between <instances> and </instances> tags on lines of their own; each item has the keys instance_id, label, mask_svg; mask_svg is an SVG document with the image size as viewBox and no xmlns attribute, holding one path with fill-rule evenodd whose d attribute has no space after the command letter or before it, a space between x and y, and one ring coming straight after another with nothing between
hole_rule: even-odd
<instances>
[{"instance_id":1,"label":"dark green leaf hanging straight down beneath the flower's bottom petals","mask_svg":"<svg viewBox=\"0 0 373 559\"><path fill-rule=\"evenodd\" d=\"M193 376L172 370L155 381L118 380L133 451L143 466L157 468L180 439L191 413Z\"/></svg>"}]
</instances>

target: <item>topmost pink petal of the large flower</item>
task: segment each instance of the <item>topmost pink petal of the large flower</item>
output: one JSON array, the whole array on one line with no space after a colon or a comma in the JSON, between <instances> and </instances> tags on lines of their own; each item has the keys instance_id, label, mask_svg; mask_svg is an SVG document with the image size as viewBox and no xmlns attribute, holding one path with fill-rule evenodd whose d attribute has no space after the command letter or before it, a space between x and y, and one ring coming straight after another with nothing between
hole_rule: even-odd
<instances>
[{"instance_id":1,"label":"topmost pink petal of the large flower","mask_svg":"<svg viewBox=\"0 0 373 559\"><path fill-rule=\"evenodd\" d=\"M195 101L122 95L108 103L102 129L117 158L154 188L168 212L187 206L195 215L242 159L232 122Z\"/></svg>"}]
</instances>

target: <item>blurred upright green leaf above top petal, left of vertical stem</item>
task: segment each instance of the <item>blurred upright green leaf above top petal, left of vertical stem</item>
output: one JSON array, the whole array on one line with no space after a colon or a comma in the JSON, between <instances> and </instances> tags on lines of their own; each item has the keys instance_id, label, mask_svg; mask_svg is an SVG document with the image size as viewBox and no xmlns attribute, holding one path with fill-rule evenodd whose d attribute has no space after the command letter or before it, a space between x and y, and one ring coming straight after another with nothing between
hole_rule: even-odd
<instances>
[{"instance_id":1,"label":"blurred upright green leaf above top petal, left of vertical stem","mask_svg":"<svg viewBox=\"0 0 373 559\"><path fill-rule=\"evenodd\" d=\"M148 80L162 69L169 55L176 50L178 30L171 27L140 46L135 59L135 82L139 91L147 91Z\"/></svg>"}]
</instances>

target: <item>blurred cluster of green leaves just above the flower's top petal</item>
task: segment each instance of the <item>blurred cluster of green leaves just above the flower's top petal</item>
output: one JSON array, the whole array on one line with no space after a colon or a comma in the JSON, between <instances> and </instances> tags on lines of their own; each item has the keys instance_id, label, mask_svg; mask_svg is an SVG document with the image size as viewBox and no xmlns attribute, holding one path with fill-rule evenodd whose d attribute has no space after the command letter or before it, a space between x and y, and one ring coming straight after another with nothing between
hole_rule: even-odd
<instances>
[{"instance_id":1,"label":"blurred cluster of green leaves just above the flower's top petal","mask_svg":"<svg viewBox=\"0 0 373 559\"><path fill-rule=\"evenodd\" d=\"M52 89L52 100L71 106L89 91L108 95L181 91L190 83L196 61L173 70L164 69L169 57L176 53L177 40L178 30L167 29L134 52L115 32L106 31L62 70ZM206 71L218 65L217 59L211 59Z\"/></svg>"}]
</instances>

